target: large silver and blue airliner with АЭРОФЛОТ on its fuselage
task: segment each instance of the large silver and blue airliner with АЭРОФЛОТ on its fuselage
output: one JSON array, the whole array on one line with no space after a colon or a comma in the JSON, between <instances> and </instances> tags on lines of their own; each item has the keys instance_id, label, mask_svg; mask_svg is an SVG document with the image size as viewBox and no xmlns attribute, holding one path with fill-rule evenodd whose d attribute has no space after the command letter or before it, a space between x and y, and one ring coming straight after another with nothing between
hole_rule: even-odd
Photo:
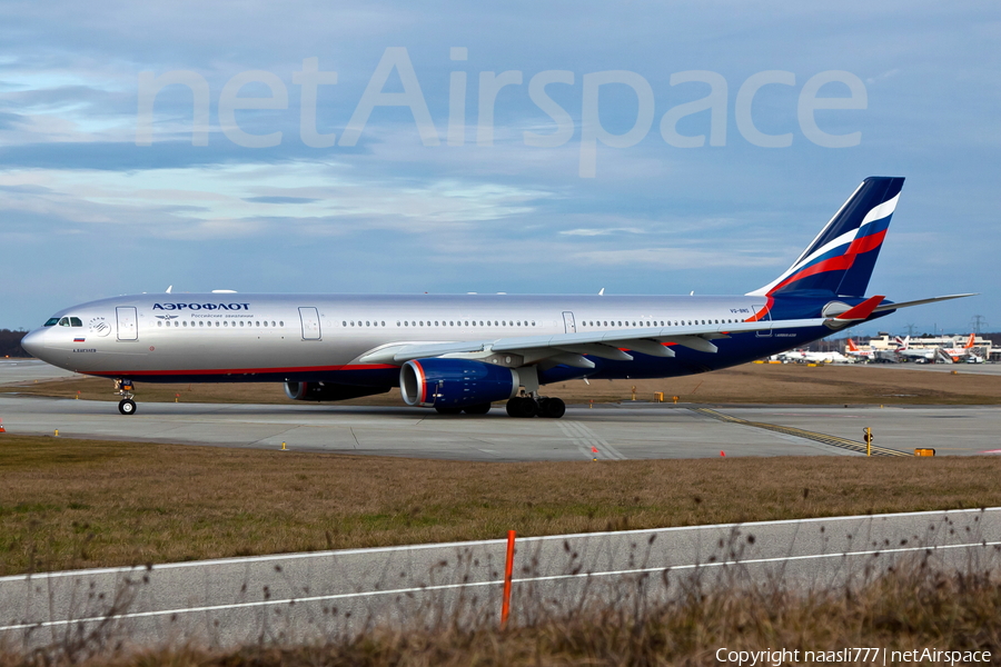
<instances>
[{"instance_id":1,"label":"large silver and blue airliner with \u0410\u042d\u0420\u041e\u0424\u041b\u041e\u0422 on its fuselage","mask_svg":"<svg viewBox=\"0 0 1001 667\"><path fill-rule=\"evenodd\" d=\"M29 332L31 355L133 382L284 382L336 401L399 387L408 406L559 418L573 379L671 378L787 350L910 306L865 291L903 178L866 178L793 265L740 296L143 293L73 306Z\"/></svg>"}]
</instances>

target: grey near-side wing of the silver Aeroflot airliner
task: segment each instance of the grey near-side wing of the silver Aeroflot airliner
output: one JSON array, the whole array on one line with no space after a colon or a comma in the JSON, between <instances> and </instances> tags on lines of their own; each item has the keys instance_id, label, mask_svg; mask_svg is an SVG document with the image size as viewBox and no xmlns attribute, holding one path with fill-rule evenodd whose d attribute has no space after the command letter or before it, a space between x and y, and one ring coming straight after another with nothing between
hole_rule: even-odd
<instances>
[{"instance_id":1,"label":"grey near-side wing of the silver Aeroflot airliner","mask_svg":"<svg viewBox=\"0 0 1001 667\"><path fill-rule=\"evenodd\" d=\"M620 361L633 359L625 350L655 357L673 357L674 351L664 344L681 345L702 352L715 352L712 340L729 338L730 334L746 334L775 329L816 327L824 318L701 325L691 327L652 327L645 329L618 329L613 331L578 331L551 336L516 336L489 340L455 342L403 342L376 348L358 358L360 364L405 364L410 359L456 355L489 357L494 354L519 355L525 364L552 359L578 368L593 368L584 356Z\"/></svg>"}]
</instances>

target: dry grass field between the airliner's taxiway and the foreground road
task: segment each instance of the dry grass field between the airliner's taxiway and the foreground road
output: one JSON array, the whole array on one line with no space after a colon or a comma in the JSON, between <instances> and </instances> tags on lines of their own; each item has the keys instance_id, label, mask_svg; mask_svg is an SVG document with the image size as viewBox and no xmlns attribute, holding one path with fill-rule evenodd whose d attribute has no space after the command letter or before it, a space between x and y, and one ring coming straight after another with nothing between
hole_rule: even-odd
<instances>
[{"instance_id":1,"label":"dry grass field between the airliner's taxiway and the foreground road","mask_svg":"<svg viewBox=\"0 0 1001 667\"><path fill-rule=\"evenodd\" d=\"M983 457L497 464L6 434L0 575L997 506L999 476Z\"/></svg>"}]
</instances>

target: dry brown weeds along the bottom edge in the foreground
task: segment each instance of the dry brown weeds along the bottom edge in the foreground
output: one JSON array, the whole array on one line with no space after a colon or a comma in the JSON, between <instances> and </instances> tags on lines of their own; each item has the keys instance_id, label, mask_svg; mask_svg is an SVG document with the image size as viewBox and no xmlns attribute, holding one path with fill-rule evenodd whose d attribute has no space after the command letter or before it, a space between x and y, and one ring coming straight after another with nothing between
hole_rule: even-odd
<instances>
[{"instance_id":1,"label":"dry brown weeds along the bottom edge in the foreground","mask_svg":"<svg viewBox=\"0 0 1001 667\"><path fill-rule=\"evenodd\" d=\"M358 666L528 666L528 665L720 665L716 651L799 651L796 659L757 664L884 664L836 657L854 647L890 651L938 649L988 651L999 661L1001 586L987 573L945 575L915 563L868 581L835 590L792 593L777 584L706 587L674 579L681 594L671 601L633 606L631 596L592 600L573 614L544 615L536 621L498 630L494 623L462 628L447 621L425 629L376 629L351 639L300 646L250 645L236 650L198 648L105 653L82 660L93 667L316 667ZM806 651L814 651L807 659ZM821 653L821 659L815 657ZM0 654L2 667L61 667L76 664L54 647L27 658ZM982 657L982 654L981 654ZM914 660L949 664L942 660ZM964 663L960 659L960 664ZM980 663L983 664L983 663Z\"/></svg>"}]
</instances>

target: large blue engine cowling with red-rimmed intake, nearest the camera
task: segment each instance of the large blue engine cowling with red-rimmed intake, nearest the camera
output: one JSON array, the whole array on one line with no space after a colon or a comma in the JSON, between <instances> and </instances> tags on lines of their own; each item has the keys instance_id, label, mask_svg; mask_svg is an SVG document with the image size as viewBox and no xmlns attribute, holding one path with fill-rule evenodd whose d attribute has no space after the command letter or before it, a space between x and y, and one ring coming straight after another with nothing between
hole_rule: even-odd
<instances>
[{"instance_id":1,"label":"large blue engine cowling with red-rimmed intake, nearest the camera","mask_svg":"<svg viewBox=\"0 0 1001 667\"><path fill-rule=\"evenodd\" d=\"M468 359L414 359L399 369L408 406L465 408L506 400L518 392L518 371Z\"/></svg>"}]
</instances>

